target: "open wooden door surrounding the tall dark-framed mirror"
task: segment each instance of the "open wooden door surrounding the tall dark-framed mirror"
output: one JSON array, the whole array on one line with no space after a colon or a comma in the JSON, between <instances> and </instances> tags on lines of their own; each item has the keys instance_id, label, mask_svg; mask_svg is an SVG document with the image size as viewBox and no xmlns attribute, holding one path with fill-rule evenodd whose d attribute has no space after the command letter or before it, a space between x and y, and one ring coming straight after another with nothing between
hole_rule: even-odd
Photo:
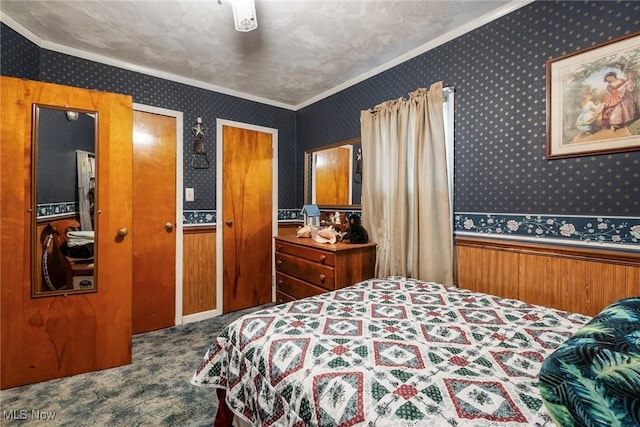
<instances>
[{"instance_id":1,"label":"open wooden door surrounding the tall dark-framed mirror","mask_svg":"<svg viewBox=\"0 0 640 427\"><path fill-rule=\"evenodd\" d=\"M0 77L0 388L131 363L130 96ZM33 105L98 118L97 291L33 297ZM123 233L124 230L121 231Z\"/></svg>"}]
</instances>

